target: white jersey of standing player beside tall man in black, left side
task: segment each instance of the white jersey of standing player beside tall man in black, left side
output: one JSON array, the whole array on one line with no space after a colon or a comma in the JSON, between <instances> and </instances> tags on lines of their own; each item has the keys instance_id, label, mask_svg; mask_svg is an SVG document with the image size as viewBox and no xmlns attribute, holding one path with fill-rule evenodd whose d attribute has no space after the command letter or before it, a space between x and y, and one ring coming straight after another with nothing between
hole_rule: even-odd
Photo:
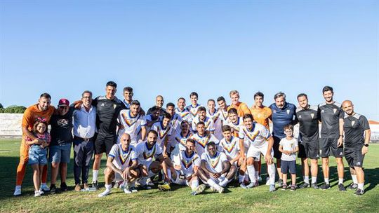
<instances>
[{"instance_id":1,"label":"white jersey of standing player beside tall man in black, left side","mask_svg":"<svg viewBox=\"0 0 379 213\"><path fill-rule=\"evenodd\" d=\"M146 125L146 119L140 114L133 117L130 110L122 109L119 114L119 123L124 126L124 129L119 129L118 142L124 133L128 133L131 135L131 144L135 145L138 142L140 128Z\"/></svg>"}]
</instances>

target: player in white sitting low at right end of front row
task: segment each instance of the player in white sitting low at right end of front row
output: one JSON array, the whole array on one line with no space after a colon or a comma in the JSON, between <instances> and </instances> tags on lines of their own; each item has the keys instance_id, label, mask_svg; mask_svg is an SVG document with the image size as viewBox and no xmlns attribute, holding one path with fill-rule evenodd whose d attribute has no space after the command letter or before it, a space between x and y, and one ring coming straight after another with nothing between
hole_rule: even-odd
<instances>
[{"instance_id":1,"label":"player in white sitting low at right end of front row","mask_svg":"<svg viewBox=\"0 0 379 213\"><path fill-rule=\"evenodd\" d=\"M223 193L223 187L232 181L236 169L230 166L225 153L217 151L217 146L214 142L208 143L206 149L208 149L208 152L204 152L201 155L200 178L211 186L212 191Z\"/></svg>"}]
</instances>

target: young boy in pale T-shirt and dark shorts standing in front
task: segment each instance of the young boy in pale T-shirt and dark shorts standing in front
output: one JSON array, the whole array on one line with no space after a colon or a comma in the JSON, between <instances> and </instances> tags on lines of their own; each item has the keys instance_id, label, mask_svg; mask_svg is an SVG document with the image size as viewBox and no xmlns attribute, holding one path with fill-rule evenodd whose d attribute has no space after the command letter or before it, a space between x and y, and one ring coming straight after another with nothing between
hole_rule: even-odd
<instances>
[{"instance_id":1,"label":"young boy in pale T-shirt and dark shorts standing in front","mask_svg":"<svg viewBox=\"0 0 379 213\"><path fill-rule=\"evenodd\" d=\"M283 173L282 190L287 188L287 172L291 173L291 191L296 190L296 153L299 151L298 139L293 137L293 125L284 126L284 134L286 137L281 139L279 143L279 151L281 155L281 173Z\"/></svg>"}]
</instances>

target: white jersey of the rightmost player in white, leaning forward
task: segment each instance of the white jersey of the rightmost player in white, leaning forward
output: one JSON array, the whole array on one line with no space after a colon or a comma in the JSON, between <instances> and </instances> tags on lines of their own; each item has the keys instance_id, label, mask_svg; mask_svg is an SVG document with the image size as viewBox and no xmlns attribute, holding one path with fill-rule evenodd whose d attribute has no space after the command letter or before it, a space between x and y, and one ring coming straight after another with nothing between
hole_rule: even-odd
<instances>
[{"instance_id":1,"label":"white jersey of the rightmost player in white, leaning forward","mask_svg":"<svg viewBox=\"0 0 379 213\"><path fill-rule=\"evenodd\" d=\"M270 131L260 123L253 123L252 130L248 130L245 126L239 130L239 138L244 139L245 144L257 148L264 146L270 136Z\"/></svg>"}]
</instances>

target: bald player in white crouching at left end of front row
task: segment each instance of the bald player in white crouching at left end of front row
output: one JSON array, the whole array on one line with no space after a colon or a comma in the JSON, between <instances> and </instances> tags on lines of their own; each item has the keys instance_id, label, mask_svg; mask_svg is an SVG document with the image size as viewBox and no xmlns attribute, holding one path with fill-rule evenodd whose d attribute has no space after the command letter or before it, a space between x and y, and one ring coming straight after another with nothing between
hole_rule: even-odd
<instances>
[{"instance_id":1,"label":"bald player in white crouching at left end of front row","mask_svg":"<svg viewBox=\"0 0 379 213\"><path fill-rule=\"evenodd\" d=\"M105 191L99 197L108 195L112 188L112 181L124 181L124 192L136 192L134 187L135 179L139 172L135 147L131 146L131 136L124 134L121 136L120 144L114 144L107 158L107 168L105 169Z\"/></svg>"}]
</instances>

